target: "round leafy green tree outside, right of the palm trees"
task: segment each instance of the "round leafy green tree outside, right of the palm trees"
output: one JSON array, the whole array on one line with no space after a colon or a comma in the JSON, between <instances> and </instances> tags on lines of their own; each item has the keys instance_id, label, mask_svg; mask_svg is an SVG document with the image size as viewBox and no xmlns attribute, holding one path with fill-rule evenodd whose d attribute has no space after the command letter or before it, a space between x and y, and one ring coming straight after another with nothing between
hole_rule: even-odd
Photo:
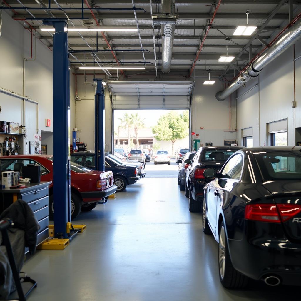
<instances>
[{"instance_id":1,"label":"round leafy green tree outside, right of the palm trees","mask_svg":"<svg viewBox=\"0 0 301 301\"><path fill-rule=\"evenodd\" d=\"M183 139L188 135L189 117L188 114L176 114L170 112L158 119L157 125L152 128L153 134L157 140L171 141L172 154L173 145L178 139Z\"/></svg>"}]
</instances>

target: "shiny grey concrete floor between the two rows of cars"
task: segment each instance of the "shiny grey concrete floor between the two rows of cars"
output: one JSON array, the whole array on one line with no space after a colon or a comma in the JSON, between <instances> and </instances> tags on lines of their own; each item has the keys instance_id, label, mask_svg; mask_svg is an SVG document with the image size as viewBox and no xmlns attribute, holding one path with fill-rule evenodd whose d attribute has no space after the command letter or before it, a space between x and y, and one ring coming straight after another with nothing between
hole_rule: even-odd
<instances>
[{"instance_id":1,"label":"shiny grey concrete floor between the two rows of cars","mask_svg":"<svg viewBox=\"0 0 301 301\"><path fill-rule=\"evenodd\" d=\"M147 170L166 167L153 164L147 163ZM80 214L74 224L84 223L87 230L64 251L37 251L29 258L23 271L38 288L28 300L275 301L299 295L297 288L255 281L246 290L225 290L217 244L203 234L201 215L189 213L177 167L172 163L168 173L169 167L174 177L146 176L116 199Z\"/></svg>"}]
</instances>

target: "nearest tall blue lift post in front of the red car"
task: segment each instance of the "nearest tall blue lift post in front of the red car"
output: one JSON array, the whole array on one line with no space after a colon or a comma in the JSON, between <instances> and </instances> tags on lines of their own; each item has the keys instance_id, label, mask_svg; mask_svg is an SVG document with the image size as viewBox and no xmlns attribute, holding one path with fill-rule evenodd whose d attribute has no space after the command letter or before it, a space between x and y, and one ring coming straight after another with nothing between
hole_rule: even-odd
<instances>
[{"instance_id":1,"label":"nearest tall blue lift post in front of the red car","mask_svg":"<svg viewBox=\"0 0 301 301\"><path fill-rule=\"evenodd\" d=\"M54 237L69 238L70 214L70 73L66 20L45 20L53 25L53 201Z\"/></svg>"}]
</instances>

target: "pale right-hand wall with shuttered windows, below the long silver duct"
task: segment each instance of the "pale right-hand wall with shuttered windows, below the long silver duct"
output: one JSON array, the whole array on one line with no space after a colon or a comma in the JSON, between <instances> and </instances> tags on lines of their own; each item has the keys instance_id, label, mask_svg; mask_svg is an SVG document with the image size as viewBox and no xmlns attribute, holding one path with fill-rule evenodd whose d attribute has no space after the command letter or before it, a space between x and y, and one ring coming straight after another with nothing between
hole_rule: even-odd
<instances>
[{"instance_id":1,"label":"pale right-hand wall with shuttered windows, below the long silver duct","mask_svg":"<svg viewBox=\"0 0 301 301\"><path fill-rule=\"evenodd\" d=\"M237 90L237 139L242 145L242 129L253 127L253 145L268 145L267 124L287 119L288 145L296 144L295 128L301 127L301 59L295 61L296 108L294 101L294 57L301 55L301 42L295 44L265 67L246 87Z\"/></svg>"}]
</instances>

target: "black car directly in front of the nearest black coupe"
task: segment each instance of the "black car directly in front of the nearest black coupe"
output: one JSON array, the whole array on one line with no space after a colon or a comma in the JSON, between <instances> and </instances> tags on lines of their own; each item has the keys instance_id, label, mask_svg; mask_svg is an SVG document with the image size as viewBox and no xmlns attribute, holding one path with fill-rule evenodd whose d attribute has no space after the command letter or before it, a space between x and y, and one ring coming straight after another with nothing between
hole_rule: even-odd
<instances>
[{"instance_id":1,"label":"black car directly in front of the nearest black coupe","mask_svg":"<svg viewBox=\"0 0 301 301\"><path fill-rule=\"evenodd\" d=\"M241 149L240 146L205 146L200 147L193 160L185 160L191 164L186 171L185 195L189 197L189 211L200 212L204 197L204 186L210 182L203 175L205 169L214 167L219 171L228 158Z\"/></svg>"}]
</instances>

